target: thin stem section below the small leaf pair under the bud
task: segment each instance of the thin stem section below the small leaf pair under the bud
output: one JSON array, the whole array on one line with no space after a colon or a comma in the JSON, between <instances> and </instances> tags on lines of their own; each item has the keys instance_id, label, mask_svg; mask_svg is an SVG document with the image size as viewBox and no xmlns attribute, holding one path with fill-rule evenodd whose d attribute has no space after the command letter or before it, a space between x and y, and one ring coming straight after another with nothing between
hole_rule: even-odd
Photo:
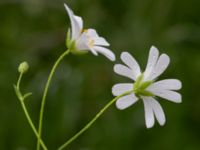
<instances>
[{"instance_id":1,"label":"thin stem section below the small leaf pair under the bud","mask_svg":"<svg viewBox=\"0 0 200 150\"><path fill-rule=\"evenodd\" d=\"M27 109L26 109L26 106L25 106L24 102L23 102L22 100L20 100L20 102L21 102L22 108L23 108L23 110L24 110L24 113L25 113L25 115L26 115L26 118L27 118L27 120L28 120L29 125L31 126L31 128L32 128L33 132L35 133L36 137L39 139L39 142L40 142L42 148L43 148L44 150L47 150L46 145L44 144L44 142L42 141L42 139L40 139L39 134L37 133L37 130L36 130L36 128L35 128L35 126L34 126L32 120L31 120L31 118L30 118L30 115L29 115L29 113L28 113L28 111L27 111Z\"/></svg>"}]
</instances>

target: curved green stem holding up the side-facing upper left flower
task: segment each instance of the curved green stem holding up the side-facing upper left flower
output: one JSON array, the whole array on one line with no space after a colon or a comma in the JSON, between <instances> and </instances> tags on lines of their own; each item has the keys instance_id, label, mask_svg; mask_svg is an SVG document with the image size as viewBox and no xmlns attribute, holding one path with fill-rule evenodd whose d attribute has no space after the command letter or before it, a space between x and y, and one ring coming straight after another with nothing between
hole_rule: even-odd
<instances>
[{"instance_id":1,"label":"curved green stem holding up the side-facing upper left flower","mask_svg":"<svg viewBox=\"0 0 200 150\"><path fill-rule=\"evenodd\" d=\"M67 51L65 51L62 55L60 55L60 57L56 60L53 68L51 69L51 72L49 74L47 83L45 85L45 89L44 89L44 93L43 93L43 97L42 97L42 102L41 102L41 108L40 108L40 118L39 118L39 128L38 128L38 134L39 134L39 138L38 138L38 142L37 142L37 150L40 150L40 142L39 139L42 135L42 124L43 124L43 114L44 114L44 106L45 106L45 102L46 102L46 97L47 97L47 93L49 90L49 85L51 83L51 79L54 75L54 72L57 68L57 66L59 65L59 63L61 62L61 60L67 55L69 54L70 50L68 49Z\"/></svg>"}]
</instances>

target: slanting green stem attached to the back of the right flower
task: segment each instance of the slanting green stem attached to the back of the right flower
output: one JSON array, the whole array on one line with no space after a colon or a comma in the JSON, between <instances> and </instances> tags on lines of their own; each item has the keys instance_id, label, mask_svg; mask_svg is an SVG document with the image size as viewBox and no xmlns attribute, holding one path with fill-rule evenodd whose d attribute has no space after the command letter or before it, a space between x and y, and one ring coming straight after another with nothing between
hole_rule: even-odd
<instances>
[{"instance_id":1,"label":"slanting green stem attached to the back of the right flower","mask_svg":"<svg viewBox=\"0 0 200 150\"><path fill-rule=\"evenodd\" d=\"M83 132L85 132L87 129L91 127L91 125L114 103L116 102L120 97L128 95L132 93L132 91L128 91L126 93L123 93L114 99L112 99L107 105L105 105L97 114L96 116L88 123L84 128L82 128L78 133L76 133L73 137L71 137L67 142L65 142L63 145L61 145L58 150L63 150L65 147L67 147L71 142L73 142L75 139L77 139Z\"/></svg>"}]
</instances>

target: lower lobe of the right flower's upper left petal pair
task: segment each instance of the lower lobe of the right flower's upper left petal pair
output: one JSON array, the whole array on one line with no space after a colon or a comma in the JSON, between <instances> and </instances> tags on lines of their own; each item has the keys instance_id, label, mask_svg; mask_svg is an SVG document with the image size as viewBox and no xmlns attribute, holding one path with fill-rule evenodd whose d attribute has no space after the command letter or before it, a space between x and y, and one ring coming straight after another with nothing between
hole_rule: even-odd
<instances>
[{"instance_id":1,"label":"lower lobe of the right flower's upper left petal pair","mask_svg":"<svg viewBox=\"0 0 200 150\"><path fill-rule=\"evenodd\" d=\"M132 80L135 80L133 71L124 65L116 64L114 66L114 71L115 71L115 73L117 73L119 75L128 77Z\"/></svg>"}]
</instances>

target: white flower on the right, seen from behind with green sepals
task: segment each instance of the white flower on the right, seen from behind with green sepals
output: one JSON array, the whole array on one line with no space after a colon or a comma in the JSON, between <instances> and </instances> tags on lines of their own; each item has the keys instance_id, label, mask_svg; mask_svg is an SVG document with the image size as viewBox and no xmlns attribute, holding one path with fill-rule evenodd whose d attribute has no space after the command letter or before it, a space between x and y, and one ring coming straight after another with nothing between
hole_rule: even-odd
<instances>
[{"instance_id":1,"label":"white flower on the right, seen from behind with green sepals","mask_svg":"<svg viewBox=\"0 0 200 150\"><path fill-rule=\"evenodd\" d=\"M182 85L179 80L165 79L155 82L155 79L168 67L170 62L169 57L166 54L159 56L158 49L152 46L144 72L141 71L137 61L128 52L123 52L121 54L121 60L125 65L116 64L114 66L114 71L135 82L120 83L113 86L112 93L114 96L128 93L117 100L117 108L125 109L136 103L139 99L142 99L147 128L153 127L155 118L160 125L164 125L166 121L165 114L161 105L155 99L155 96L175 103L181 102L181 95L174 91L181 89Z\"/></svg>"}]
</instances>

